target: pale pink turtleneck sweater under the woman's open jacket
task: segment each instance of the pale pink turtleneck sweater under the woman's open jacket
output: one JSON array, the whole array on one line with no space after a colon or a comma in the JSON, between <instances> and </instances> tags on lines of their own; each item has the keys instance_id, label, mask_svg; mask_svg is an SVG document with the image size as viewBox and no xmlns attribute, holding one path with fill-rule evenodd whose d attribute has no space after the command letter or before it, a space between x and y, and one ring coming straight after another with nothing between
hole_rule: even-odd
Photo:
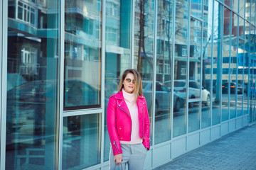
<instances>
[{"instance_id":1,"label":"pale pink turtleneck sweater under the woman's open jacket","mask_svg":"<svg viewBox=\"0 0 256 170\"><path fill-rule=\"evenodd\" d=\"M122 89L124 96L124 101L127 104L129 113L132 118L132 135L131 141L120 141L121 144L139 144L142 143L142 138L139 137L139 116L138 116L138 106L137 100L134 94L129 94L124 89Z\"/></svg>"}]
</instances>

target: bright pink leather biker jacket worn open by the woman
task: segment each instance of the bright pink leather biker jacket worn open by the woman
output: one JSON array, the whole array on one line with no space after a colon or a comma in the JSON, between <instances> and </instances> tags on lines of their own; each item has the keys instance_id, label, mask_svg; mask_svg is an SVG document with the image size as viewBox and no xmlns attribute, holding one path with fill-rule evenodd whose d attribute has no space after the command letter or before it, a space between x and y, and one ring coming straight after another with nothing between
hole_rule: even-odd
<instances>
[{"instance_id":1,"label":"bright pink leather biker jacket worn open by the woman","mask_svg":"<svg viewBox=\"0 0 256 170\"><path fill-rule=\"evenodd\" d=\"M150 122L144 96L138 96L137 106L139 110L139 137L143 139L144 147L149 149ZM132 119L122 91L110 97L107 106L107 129L113 154L122 154L119 140L131 141L132 133Z\"/></svg>"}]
</instances>

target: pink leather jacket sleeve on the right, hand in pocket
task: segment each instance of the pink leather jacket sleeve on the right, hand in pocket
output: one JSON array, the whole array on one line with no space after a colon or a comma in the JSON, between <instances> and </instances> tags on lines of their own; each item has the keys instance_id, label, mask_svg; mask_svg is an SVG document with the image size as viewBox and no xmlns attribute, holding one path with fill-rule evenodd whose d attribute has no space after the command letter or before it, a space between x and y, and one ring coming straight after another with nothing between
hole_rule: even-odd
<instances>
[{"instance_id":1,"label":"pink leather jacket sleeve on the right, hand in pocket","mask_svg":"<svg viewBox=\"0 0 256 170\"><path fill-rule=\"evenodd\" d=\"M146 103L146 100L144 101ZM150 137L150 121L149 121L149 112L146 106L145 109L145 115L144 115L144 138L143 138L143 145L146 147L148 150L150 148L150 142L149 142L149 137Z\"/></svg>"}]
</instances>

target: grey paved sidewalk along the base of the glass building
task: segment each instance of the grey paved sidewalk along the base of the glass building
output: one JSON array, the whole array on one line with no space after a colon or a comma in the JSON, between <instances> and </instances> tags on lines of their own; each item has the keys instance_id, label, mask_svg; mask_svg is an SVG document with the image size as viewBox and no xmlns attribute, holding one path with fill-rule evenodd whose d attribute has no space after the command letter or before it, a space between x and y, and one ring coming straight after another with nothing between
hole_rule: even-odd
<instances>
[{"instance_id":1,"label":"grey paved sidewalk along the base of the glass building","mask_svg":"<svg viewBox=\"0 0 256 170\"><path fill-rule=\"evenodd\" d=\"M256 170L256 124L232 132L156 169Z\"/></svg>"}]
</instances>

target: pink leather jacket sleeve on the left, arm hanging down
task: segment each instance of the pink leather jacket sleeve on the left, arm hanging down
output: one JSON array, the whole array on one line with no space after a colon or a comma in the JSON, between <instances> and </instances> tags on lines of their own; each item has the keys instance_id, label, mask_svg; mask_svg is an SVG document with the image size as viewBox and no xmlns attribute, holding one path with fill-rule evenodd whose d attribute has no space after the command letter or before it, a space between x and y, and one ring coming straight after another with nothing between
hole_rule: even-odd
<instances>
[{"instance_id":1,"label":"pink leather jacket sleeve on the left, arm hanging down","mask_svg":"<svg viewBox=\"0 0 256 170\"><path fill-rule=\"evenodd\" d=\"M110 97L107 105L107 130L110 135L110 142L113 149L113 154L122 154L119 137L117 134L117 105L114 97Z\"/></svg>"}]
</instances>

